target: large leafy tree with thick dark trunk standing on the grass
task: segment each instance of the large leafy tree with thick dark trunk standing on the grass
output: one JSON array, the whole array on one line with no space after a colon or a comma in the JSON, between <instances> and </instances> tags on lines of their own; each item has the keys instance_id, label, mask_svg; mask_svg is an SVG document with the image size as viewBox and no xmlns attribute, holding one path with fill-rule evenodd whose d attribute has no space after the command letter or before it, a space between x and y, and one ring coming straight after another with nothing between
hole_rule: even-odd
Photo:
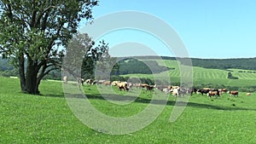
<instances>
[{"instance_id":1,"label":"large leafy tree with thick dark trunk standing on the grass","mask_svg":"<svg viewBox=\"0 0 256 144\"><path fill-rule=\"evenodd\" d=\"M20 88L38 94L41 79L61 66L80 20L92 20L97 0L0 0L0 54L13 60Z\"/></svg>"}]
</instances>

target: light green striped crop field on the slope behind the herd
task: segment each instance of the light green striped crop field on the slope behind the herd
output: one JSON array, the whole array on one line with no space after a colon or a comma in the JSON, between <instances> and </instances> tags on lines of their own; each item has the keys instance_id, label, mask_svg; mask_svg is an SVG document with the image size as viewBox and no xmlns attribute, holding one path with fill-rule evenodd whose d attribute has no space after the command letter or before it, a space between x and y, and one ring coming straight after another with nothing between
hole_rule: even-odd
<instances>
[{"instance_id":1,"label":"light green striped crop field on the slope behind the herd","mask_svg":"<svg viewBox=\"0 0 256 144\"><path fill-rule=\"evenodd\" d=\"M163 63L160 60L156 60L159 62L160 66L167 66L170 68L175 68L170 71L154 73L154 77L148 74L128 74L123 75L124 77L138 77L138 78L151 78L151 79L160 79L165 82L166 78L169 74L171 83L180 82L180 68L176 60L163 60ZM248 70L240 70L240 69L230 69L233 76L239 79L228 79L228 72L226 70L219 69L207 69L198 66L193 66L193 83L194 84L219 84L225 86L232 87L248 87L256 85L256 72ZM242 71L242 72L241 72ZM189 75L188 72L183 72L183 77Z\"/></svg>"}]
</instances>

